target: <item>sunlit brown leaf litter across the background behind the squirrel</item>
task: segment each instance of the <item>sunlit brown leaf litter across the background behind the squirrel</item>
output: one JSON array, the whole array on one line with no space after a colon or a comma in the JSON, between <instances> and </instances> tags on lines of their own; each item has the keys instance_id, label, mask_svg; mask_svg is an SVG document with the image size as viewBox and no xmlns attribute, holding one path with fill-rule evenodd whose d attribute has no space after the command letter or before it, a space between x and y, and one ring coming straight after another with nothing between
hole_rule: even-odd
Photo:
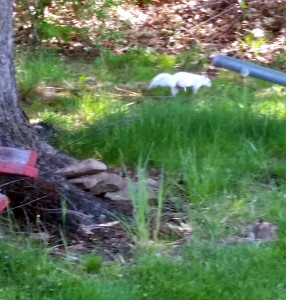
<instances>
[{"instance_id":1,"label":"sunlit brown leaf litter across the background behind the squirrel","mask_svg":"<svg viewBox=\"0 0 286 300\"><path fill-rule=\"evenodd\" d=\"M73 28L85 28L88 35L83 37L77 32L71 34L70 42L52 39L45 43L60 45L68 53L84 50L89 56L98 54L93 49L96 44L117 53L149 46L173 54L198 45L208 56L214 52L236 53L267 63L285 45L285 12L286 3L282 0L254 0L245 4L236 0L153 0L138 5L125 2L111 7L104 18L99 18L96 13L91 16L86 9L75 9L73 5L67 4L59 11L52 4L45 12L47 18ZM25 14L19 13L15 20L16 41L29 44L32 29L23 23ZM263 37L254 37L253 30L257 29L262 30Z\"/></svg>"}]
</instances>

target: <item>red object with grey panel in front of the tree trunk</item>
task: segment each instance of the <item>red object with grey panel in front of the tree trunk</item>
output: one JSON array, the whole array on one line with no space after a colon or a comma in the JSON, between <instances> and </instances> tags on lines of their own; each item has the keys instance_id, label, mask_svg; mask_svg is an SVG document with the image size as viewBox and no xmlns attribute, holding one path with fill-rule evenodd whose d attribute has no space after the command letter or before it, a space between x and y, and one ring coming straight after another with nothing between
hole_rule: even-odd
<instances>
[{"instance_id":1,"label":"red object with grey panel in front of the tree trunk","mask_svg":"<svg viewBox=\"0 0 286 300\"><path fill-rule=\"evenodd\" d=\"M34 168L38 153L10 147L0 147L0 173L37 177L39 170Z\"/></svg>"}]
</instances>

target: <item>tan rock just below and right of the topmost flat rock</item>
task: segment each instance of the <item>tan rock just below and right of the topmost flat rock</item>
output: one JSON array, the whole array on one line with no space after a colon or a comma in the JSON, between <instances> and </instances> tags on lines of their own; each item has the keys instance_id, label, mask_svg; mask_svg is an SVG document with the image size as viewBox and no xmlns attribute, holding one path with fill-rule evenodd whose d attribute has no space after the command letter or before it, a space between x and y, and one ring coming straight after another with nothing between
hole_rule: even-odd
<instances>
[{"instance_id":1,"label":"tan rock just below and right of the topmost flat rock","mask_svg":"<svg viewBox=\"0 0 286 300\"><path fill-rule=\"evenodd\" d=\"M92 195L99 195L106 192L117 192L124 189L126 180L117 174L107 174L106 178L96 186L92 187L90 193Z\"/></svg>"}]
</instances>

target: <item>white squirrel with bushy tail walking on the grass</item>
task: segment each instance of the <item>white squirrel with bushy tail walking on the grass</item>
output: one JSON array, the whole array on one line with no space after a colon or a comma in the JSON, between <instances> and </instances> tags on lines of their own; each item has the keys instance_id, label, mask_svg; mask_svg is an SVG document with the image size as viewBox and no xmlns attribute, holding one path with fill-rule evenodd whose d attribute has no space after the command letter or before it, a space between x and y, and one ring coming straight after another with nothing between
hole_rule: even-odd
<instances>
[{"instance_id":1,"label":"white squirrel with bushy tail walking on the grass","mask_svg":"<svg viewBox=\"0 0 286 300\"><path fill-rule=\"evenodd\" d=\"M171 89L172 96L176 96L180 89L186 91L186 88L192 88L193 93L196 94L202 86L211 87L210 79L203 75L197 75L188 72L178 72L174 75L168 73L160 73L155 76L149 86L148 90L158 86L168 86Z\"/></svg>"}]
</instances>

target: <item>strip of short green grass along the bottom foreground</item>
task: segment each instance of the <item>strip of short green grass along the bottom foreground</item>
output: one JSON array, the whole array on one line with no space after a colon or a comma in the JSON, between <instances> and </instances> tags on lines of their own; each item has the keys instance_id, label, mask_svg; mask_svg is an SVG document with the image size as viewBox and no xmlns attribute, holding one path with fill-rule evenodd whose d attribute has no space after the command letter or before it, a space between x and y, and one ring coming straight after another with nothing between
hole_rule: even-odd
<instances>
[{"instance_id":1,"label":"strip of short green grass along the bottom foreground","mask_svg":"<svg viewBox=\"0 0 286 300\"><path fill-rule=\"evenodd\" d=\"M18 242L19 243L19 242ZM285 241L221 246L194 241L173 258L140 255L94 276L35 245L0 243L0 299L285 299ZM44 251L44 255L43 255ZM89 258L90 259L90 258ZM97 260L96 260L97 261Z\"/></svg>"}]
</instances>

